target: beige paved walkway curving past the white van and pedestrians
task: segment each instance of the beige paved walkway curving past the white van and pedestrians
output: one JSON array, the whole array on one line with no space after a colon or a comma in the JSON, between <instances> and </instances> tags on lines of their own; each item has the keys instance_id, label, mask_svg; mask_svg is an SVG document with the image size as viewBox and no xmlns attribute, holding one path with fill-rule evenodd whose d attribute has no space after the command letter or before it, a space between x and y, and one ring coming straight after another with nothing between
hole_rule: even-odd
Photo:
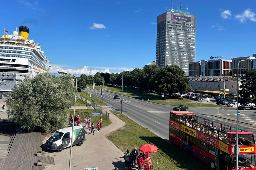
<instances>
[{"instance_id":1,"label":"beige paved walkway curving past the white van and pedestrians","mask_svg":"<svg viewBox=\"0 0 256 170\"><path fill-rule=\"evenodd\" d=\"M77 108L77 107L76 107ZM86 141L82 146L74 146L72 149L72 169L85 169L98 167L98 170L112 170L118 167L123 170L125 162L123 159L123 152L117 148L106 135L112 133L119 128L125 126L125 123L113 115L109 107L102 107L109 112L109 119L112 124L106 128L102 128L100 132L97 130L93 134L85 135ZM103 120L104 124L104 120ZM97 129L97 128L95 128ZM87 129L85 130L87 131ZM70 147L63 149L62 152L51 152L45 148L44 143L46 139L42 138L44 156L49 155L54 157L55 165L47 166L48 170L65 170L69 166ZM137 168L136 168L137 169Z\"/></svg>"}]
</instances>

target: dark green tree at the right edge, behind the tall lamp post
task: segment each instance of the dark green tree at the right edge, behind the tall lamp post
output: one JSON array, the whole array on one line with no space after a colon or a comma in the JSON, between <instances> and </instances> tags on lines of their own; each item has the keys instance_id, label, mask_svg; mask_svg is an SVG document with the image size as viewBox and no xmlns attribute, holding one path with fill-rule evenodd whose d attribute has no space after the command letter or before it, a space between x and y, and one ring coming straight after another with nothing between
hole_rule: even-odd
<instances>
[{"instance_id":1,"label":"dark green tree at the right edge, behind the tall lamp post","mask_svg":"<svg viewBox=\"0 0 256 170\"><path fill-rule=\"evenodd\" d=\"M240 77L241 85L239 90L239 94L243 98L248 98L252 96L253 98L256 97L256 70L250 69L244 72L244 76Z\"/></svg>"}]
</instances>

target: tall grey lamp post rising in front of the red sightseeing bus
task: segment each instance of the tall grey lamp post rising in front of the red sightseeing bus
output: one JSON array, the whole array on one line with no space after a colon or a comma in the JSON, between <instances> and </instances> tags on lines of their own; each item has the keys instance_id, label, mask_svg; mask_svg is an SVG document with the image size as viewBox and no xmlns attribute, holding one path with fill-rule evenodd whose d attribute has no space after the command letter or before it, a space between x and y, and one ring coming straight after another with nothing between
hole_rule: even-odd
<instances>
[{"instance_id":1,"label":"tall grey lamp post rising in front of the red sightseeing bus","mask_svg":"<svg viewBox=\"0 0 256 170\"><path fill-rule=\"evenodd\" d=\"M253 60L255 59L255 57L248 57L245 60ZM240 60L237 64L237 102L236 102L236 146L235 146L235 150L236 150L236 170L238 170L238 152L237 152L237 148L238 148L238 89L239 89L239 85L238 85L238 73L239 73L239 63L241 61L245 61L245 60Z\"/></svg>"}]
</instances>

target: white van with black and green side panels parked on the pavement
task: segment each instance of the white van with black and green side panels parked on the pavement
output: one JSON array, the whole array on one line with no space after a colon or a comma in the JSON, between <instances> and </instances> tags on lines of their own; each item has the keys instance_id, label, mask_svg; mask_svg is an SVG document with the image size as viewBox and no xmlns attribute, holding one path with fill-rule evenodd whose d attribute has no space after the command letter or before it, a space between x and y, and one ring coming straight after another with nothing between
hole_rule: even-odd
<instances>
[{"instance_id":1,"label":"white van with black and green side panels parked on the pavement","mask_svg":"<svg viewBox=\"0 0 256 170\"><path fill-rule=\"evenodd\" d=\"M45 145L47 149L61 152L63 148L71 146L71 131L72 127L59 129L55 131L49 139L46 140ZM73 145L81 146L85 141L84 128L74 126L73 131Z\"/></svg>"}]
</instances>

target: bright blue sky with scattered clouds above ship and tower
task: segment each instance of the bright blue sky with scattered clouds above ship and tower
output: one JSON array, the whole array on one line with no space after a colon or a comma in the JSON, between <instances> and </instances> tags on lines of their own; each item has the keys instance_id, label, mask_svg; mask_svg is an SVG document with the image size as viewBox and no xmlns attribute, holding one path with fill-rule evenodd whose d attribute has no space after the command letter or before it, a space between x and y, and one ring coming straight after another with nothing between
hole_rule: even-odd
<instances>
[{"instance_id":1,"label":"bright blue sky with scattered clouds above ship and tower","mask_svg":"<svg viewBox=\"0 0 256 170\"><path fill-rule=\"evenodd\" d=\"M157 16L171 0L9 0L2 3L1 28L29 27L52 65L70 73L118 73L156 59ZM173 9L180 0L173 0ZM196 61L210 56L252 56L256 1L183 0L196 15Z\"/></svg>"}]
</instances>

